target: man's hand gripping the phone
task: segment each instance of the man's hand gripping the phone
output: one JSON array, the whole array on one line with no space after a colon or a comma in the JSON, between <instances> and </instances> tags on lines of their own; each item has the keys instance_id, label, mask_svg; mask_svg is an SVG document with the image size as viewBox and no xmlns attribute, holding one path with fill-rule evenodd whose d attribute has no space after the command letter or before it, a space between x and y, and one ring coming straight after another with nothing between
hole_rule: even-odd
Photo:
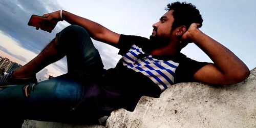
<instances>
[{"instance_id":1,"label":"man's hand gripping the phone","mask_svg":"<svg viewBox=\"0 0 256 128\"><path fill-rule=\"evenodd\" d=\"M60 11L55 11L55 12L52 12L52 13L48 13L48 14L44 14L42 15L42 17L46 17L47 20L51 21L52 23L52 29L49 30L49 29L45 29L45 28L40 28L41 30L44 30L44 31L47 31L47 32L52 32L52 30L55 28L55 26L57 25L57 23L61 20L60 19ZM38 30L39 28L36 27L36 30Z\"/></svg>"}]
</instances>

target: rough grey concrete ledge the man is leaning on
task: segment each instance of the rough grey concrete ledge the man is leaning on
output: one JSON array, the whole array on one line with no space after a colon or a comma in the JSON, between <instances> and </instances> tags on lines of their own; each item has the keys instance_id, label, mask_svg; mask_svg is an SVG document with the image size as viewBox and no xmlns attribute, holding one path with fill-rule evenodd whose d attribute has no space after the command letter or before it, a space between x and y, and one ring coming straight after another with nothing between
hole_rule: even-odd
<instances>
[{"instance_id":1,"label":"rough grey concrete ledge the man is leaning on","mask_svg":"<svg viewBox=\"0 0 256 128\"><path fill-rule=\"evenodd\" d=\"M23 127L104 126L27 120ZM143 96L134 112L112 112L106 127L256 127L256 68L232 86L187 82L169 87L160 98Z\"/></svg>"}]
</instances>

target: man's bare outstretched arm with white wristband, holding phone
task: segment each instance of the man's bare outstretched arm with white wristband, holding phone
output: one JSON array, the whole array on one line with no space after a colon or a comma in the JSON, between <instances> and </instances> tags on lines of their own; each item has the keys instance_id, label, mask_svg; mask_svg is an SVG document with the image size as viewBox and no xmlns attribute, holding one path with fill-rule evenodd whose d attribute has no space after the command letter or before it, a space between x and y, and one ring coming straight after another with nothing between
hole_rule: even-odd
<instances>
[{"instance_id":1,"label":"man's bare outstretched arm with white wristband, holding phone","mask_svg":"<svg viewBox=\"0 0 256 128\"><path fill-rule=\"evenodd\" d=\"M44 14L43 16L47 17L49 20L61 20L60 11ZM91 37L95 40L105 42L114 47L117 46L120 34L112 32L89 19L77 16L67 11L62 11L61 16L62 20L66 20L66 22L70 23L71 25L78 25L86 29Z\"/></svg>"}]
</instances>

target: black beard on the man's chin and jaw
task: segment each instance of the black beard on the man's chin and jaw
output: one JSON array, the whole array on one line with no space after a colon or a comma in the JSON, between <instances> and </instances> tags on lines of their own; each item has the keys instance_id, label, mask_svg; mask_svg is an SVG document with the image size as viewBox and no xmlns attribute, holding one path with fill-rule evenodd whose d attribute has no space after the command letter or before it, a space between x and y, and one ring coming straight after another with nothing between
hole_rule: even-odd
<instances>
[{"instance_id":1,"label":"black beard on the man's chin and jaw","mask_svg":"<svg viewBox=\"0 0 256 128\"><path fill-rule=\"evenodd\" d=\"M150 47L152 50L160 49L169 44L169 39L161 36L150 36Z\"/></svg>"}]
</instances>

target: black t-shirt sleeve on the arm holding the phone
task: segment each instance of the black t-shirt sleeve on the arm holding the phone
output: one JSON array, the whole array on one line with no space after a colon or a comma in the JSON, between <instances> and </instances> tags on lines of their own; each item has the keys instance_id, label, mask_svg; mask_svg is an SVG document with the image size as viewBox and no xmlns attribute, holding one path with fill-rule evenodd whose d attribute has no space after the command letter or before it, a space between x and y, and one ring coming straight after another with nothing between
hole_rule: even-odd
<instances>
[{"instance_id":1,"label":"black t-shirt sleeve on the arm holding the phone","mask_svg":"<svg viewBox=\"0 0 256 128\"><path fill-rule=\"evenodd\" d=\"M118 54L124 55L127 53L133 45L143 45L148 39L141 36L134 35L120 35L117 48L119 49Z\"/></svg>"}]
</instances>

